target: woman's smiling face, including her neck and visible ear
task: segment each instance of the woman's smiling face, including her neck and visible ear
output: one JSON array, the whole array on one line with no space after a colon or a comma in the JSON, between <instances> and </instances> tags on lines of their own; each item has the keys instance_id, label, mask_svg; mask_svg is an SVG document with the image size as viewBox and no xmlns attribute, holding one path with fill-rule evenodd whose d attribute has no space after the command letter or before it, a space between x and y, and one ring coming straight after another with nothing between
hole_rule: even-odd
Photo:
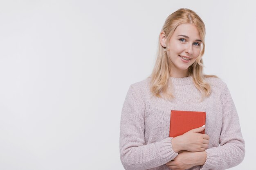
<instances>
[{"instance_id":1,"label":"woman's smiling face, including her neck and visible ear","mask_svg":"<svg viewBox=\"0 0 256 170\"><path fill-rule=\"evenodd\" d=\"M162 46L166 46L164 37L161 39L161 44L164 43ZM188 68L198 58L201 46L202 40L195 25L180 24L177 26L167 47L168 57L171 60L170 75L177 78L187 76Z\"/></svg>"}]
</instances>

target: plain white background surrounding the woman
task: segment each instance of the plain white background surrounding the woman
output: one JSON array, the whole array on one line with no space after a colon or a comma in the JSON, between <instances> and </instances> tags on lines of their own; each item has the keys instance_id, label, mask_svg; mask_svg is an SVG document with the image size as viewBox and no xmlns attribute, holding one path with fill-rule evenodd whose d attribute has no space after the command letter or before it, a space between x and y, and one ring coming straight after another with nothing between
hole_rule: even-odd
<instances>
[{"instance_id":1,"label":"plain white background surrounding the woman","mask_svg":"<svg viewBox=\"0 0 256 170\"><path fill-rule=\"evenodd\" d=\"M0 169L120 170L119 123L132 83L153 69L164 20L206 25L204 72L227 83L255 161L256 23L243 0L0 0Z\"/></svg>"}]
</instances>

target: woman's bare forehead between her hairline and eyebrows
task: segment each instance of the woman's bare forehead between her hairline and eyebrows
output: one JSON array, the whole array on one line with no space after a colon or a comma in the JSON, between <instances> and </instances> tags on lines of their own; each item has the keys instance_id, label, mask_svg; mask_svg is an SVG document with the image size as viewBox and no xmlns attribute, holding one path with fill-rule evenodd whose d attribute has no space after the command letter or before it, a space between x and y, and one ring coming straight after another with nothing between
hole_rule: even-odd
<instances>
[{"instance_id":1,"label":"woman's bare forehead between her hairline and eyebrows","mask_svg":"<svg viewBox=\"0 0 256 170\"><path fill-rule=\"evenodd\" d=\"M198 28L194 24L180 24L176 27L173 35L177 37L177 35L186 35L189 39L200 39L200 34Z\"/></svg>"}]
</instances>

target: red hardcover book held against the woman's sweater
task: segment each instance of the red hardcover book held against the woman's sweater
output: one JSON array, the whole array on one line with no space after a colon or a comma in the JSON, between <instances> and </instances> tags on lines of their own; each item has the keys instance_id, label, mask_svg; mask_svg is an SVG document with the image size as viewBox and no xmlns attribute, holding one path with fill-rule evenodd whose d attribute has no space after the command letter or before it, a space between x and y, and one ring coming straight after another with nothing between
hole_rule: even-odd
<instances>
[{"instance_id":1,"label":"red hardcover book held against the woman's sweater","mask_svg":"<svg viewBox=\"0 0 256 170\"><path fill-rule=\"evenodd\" d=\"M170 137L183 135L205 124L206 113L202 111L171 110ZM200 132L204 134L204 131Z\"/></svg>"}]
</instances>

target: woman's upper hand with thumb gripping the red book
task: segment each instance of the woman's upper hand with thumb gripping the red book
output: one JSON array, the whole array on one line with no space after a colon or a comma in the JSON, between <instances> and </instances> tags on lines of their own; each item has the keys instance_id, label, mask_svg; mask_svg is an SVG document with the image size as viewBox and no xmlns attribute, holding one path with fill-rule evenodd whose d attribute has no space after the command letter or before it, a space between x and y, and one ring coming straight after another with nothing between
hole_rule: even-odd
<instances>
[{"instance_id":1,"label":"woman's upper hand with thumb gripping the red book","mask_svg":"<svg viewBox=\"0 0 256 170\"><path fill-rule=\"evenodd\" d=\"M174 137L172 139L172 146L175 153L178 153L180 150L187 150L189 152L200 152L208 148L209 144L209 135L202 134L205 129L204 127L199 127L192 129L183 135Z\"/></svg>"}]
</instances>

